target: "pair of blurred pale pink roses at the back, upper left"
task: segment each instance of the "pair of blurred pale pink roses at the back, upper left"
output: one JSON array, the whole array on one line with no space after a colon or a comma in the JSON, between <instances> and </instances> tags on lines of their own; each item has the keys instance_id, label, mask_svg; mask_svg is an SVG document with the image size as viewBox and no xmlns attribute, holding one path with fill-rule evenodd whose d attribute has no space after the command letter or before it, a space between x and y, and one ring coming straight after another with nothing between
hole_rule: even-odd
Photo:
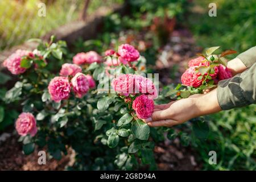
<instances>
[{"instance_id":1,"label":"pair of blurred pale pink roses at the back, upper left","mask_svg":"<svg viewBox=\"0 0 256 182\"><path fill-rule=\"evenodd\" d=\"M92 64L95 62L100 63L101 61L102 57L95 51L80 52L73 57L74 64Z\"/></svg>"}]
</instances>

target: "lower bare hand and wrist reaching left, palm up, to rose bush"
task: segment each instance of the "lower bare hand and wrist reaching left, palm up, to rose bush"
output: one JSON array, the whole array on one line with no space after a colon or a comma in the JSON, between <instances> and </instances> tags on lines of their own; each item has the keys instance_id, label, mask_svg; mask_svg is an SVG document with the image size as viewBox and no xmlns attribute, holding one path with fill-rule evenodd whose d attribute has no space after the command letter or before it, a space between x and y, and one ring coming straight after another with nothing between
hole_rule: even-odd
<instances>
[{"instance_id":1,"label":"lower bare hand and wrist reaching left, palm up, to rose bush","mask_svg":"<svg viewBox=\"0 0 256 182\"><path fill-rule=\"evenodd\" d=\"M199 117L220 111L217 101L217 89L208 94L195 94L178 101L172 101L166 105L155 105L151 118L144 119L149 126L171 127Z\"/></svg>"}]
</instances>

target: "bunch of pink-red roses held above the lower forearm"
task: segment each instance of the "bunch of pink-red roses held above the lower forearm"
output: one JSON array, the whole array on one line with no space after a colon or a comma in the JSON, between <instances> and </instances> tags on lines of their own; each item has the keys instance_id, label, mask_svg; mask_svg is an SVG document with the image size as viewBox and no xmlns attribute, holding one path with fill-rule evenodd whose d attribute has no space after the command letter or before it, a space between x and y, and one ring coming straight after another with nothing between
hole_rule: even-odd
<instances>
[{"instance_id":1,"label":"bunch of pink-red roses held above the lower forearm","mask_svg":"<svg viewBox=\"0 0 256 182\"><path fill-rule=\"evenodd\" d=\"M208 67L209 62L206 61L204 57L200 56L196 59L190 60L188 65L189 68L181 76L181 82L185 86L193 86L194 88L197 88L203 84L203 79L199 79L201 73L196 71L196 68L203 66ZM205 76L207 74L208 73L205 73ZM214 67L214 73L209 74L209 76L212 77L214 83L217 84L220 80L232 77L232 72L223 65L220 65L218 67Z\"/></svg>"}]
</instances>

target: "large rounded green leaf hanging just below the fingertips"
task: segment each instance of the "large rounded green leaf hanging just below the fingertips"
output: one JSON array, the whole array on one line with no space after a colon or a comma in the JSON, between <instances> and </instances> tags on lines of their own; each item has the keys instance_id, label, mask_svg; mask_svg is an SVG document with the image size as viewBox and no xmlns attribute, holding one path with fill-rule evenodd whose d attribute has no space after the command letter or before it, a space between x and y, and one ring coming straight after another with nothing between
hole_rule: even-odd
<instances>
[{"instance_id":1,"label":"large rounded green leaf hanging just below the fingertips","mask_svg":"<svg viewBox=\"0 0 256 182\"><path fill-rule=\"evenodd\" d=\"M150 127L141 119L137 119L133 122L131 131L133 131L134 136L140 140L147 140L150 135Z\"/></svg>"}]
</instances>

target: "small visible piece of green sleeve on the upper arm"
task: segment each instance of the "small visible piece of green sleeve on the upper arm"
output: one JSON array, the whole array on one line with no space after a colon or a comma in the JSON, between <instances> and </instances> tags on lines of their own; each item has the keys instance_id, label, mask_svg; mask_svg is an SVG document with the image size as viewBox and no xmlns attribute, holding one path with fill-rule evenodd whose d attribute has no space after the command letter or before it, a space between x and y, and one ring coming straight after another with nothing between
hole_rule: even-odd
<instances>
[{"instance_id":1,"label":"small visible piece of green sleeve on the upper arm","mask_svg":"<svg viewBox=\"0 0 256 182\"><path fill-rule=\"evenodd\" d=\"M248 49L237 56L247 68L250 68L256 63L256 46Z\"/></svg>"}]
</instances>

